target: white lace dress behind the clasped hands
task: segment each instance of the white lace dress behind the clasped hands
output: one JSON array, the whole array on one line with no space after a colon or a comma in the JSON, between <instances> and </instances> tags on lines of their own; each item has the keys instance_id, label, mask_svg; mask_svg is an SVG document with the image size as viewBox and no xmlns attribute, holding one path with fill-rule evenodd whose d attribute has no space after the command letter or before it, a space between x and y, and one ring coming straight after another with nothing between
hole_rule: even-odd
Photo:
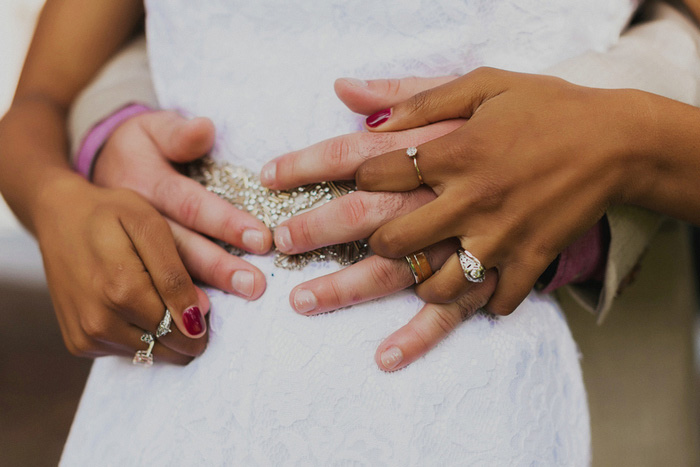
<instances>
[{"instance_id":1,"label":"white lace dress behind the clasped hands","mask_svg":"<svg viewBox=\"0 0 700 467\"><path fill-rule=\"evenodd\" d=\"M333 81L537 71L614 42L631 0L148 1L164 107L211 117L214 157L270 158L361 129ZM407 369L373 355L422 303L412 290L304 317L291 288L337 269L267 274L255 302L210 294L210 343L186 367L93 366L64 465L585 465L590 434L576 345L557 304L531 294L478 315ZM157 355L156 355L157 359Z\"/></svg>"}]
</instances>

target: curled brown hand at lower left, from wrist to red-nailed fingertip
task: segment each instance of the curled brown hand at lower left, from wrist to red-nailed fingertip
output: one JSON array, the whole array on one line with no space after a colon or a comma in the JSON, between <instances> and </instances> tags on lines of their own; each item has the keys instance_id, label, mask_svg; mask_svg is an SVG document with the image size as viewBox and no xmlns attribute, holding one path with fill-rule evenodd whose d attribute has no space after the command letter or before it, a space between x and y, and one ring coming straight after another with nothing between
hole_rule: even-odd
<instances>
[{"instance_id":1,"label":"curled brown hand at lower left, from wrist to red-nailed fingertip","mask_svg":"<svg viewBox=\"0 0 700 467\"><path fill-rule=\"evenodd\" d=\"M204 351L209 301L148 202L82 179L56 183L42 196L37 239L71 353L132 357L145 350L140 337L155 333L166 308L174 326L156 341L155 360L185 364Z\"/></svg>"}]
</instances>

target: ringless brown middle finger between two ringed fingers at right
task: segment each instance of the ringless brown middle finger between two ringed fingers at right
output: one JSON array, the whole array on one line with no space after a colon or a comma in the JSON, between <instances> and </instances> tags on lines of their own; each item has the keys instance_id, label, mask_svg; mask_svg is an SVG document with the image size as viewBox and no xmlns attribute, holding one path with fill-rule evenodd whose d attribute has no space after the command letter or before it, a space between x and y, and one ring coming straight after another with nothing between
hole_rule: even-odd
<instances>
[{"instance_id":1,"label":"ringless brown middle finger between two ringed fingers at right","mask_svg":"<svg viewBox=\"0 0 700 467\"><path fill-rule=\"evenodd\" d=\"M372 250L386 258L400 258L446 238L460 235L459 206L439 197L379 227L370 237Z\"/></svg>"}]
</instances>

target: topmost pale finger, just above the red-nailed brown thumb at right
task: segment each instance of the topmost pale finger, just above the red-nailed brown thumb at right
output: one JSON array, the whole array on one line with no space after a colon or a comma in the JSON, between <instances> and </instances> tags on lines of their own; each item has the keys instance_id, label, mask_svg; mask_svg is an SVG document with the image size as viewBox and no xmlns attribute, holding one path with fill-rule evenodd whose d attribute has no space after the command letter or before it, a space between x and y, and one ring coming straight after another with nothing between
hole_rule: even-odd
<instances>
[{"instance_id":1,"label":"topmost pale finger, just above the red-nailed brown thumb at right","mask_svg":"<svg viewBox=\"0 0 700 467\"><path fill-rule=\"evenodd\" d=\"M411 96L448 83L457 76L436 78L373 79L340 78L335 82L335 93L353 112L369 115L393 107Z\"/></svg>"}]
</instances>

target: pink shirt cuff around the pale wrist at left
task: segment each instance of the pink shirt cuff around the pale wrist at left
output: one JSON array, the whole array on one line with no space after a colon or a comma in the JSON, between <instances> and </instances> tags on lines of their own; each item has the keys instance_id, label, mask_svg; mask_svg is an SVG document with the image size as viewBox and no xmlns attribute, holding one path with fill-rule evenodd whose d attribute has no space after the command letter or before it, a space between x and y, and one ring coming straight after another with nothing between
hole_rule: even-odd
<instances>
[{"instance_id":1,"label":"pink shirt cuff around the pale wrist at left","mask_svg":"<svg viewBox=\"0 0 700 467\"><path fill-rule=\"evenodd\" d=\"M112 132L131 117L150 111L151 108L143 104L127 104L92 127L78 148L77 157L73 161L75 171L90 180L97 154Z\"/></svg>"}]
</instances>

